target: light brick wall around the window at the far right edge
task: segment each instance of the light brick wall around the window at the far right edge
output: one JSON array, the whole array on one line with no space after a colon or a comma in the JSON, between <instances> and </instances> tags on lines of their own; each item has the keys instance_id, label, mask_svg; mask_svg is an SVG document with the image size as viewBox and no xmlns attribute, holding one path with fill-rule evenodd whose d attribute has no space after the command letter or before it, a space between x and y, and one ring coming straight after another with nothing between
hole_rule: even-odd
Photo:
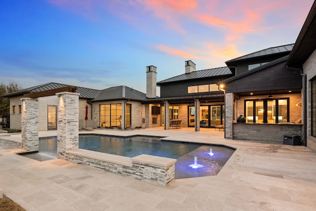
<instances>
[{"instance_id":1,"label":"light brick wall around the window at the far right edge","mask_svg":"<svg viewBox=\"0 0 316 211\"><path fill-rule=\"evenodd\" d=\"M311 80L316 76L316 50L303 65L304 73L307 76L307 147L316 152L316 137L312 136L312 99Z\"/></svg>"}]
</instances>

